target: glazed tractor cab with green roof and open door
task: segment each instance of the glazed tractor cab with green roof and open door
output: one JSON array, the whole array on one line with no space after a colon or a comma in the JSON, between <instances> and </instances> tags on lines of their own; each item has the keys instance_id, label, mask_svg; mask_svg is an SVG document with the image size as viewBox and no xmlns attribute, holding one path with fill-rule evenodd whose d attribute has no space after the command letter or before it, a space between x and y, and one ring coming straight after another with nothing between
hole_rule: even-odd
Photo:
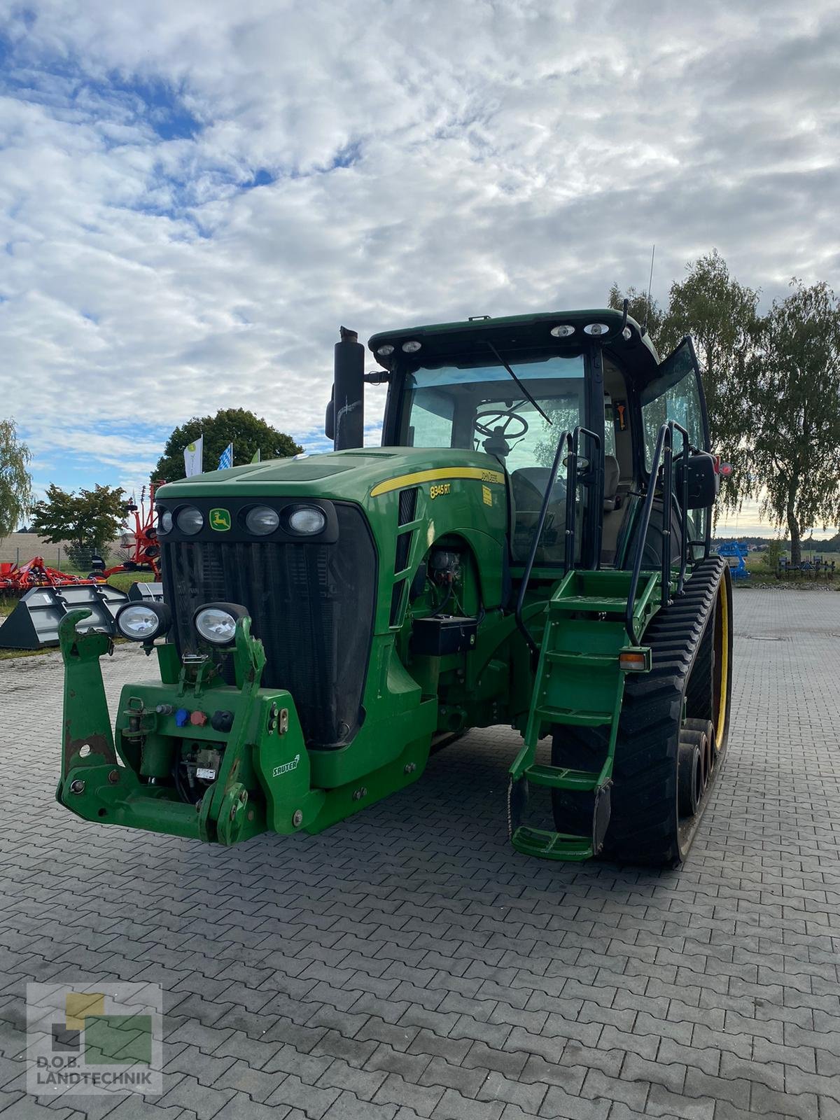
<instances>
[{"instance_id":1,"label":"glazed tractor cab with green roof and open door","mask_svg":"<svg viewBox=\"0 0 840 1120\"><path fill-rule=\"evenodd\" d=\"M383 368L357 372L356 399L343 396L358 442L364 380L389 385L383 447L485 455L488 468L504 472L514 570L528 564L532 550L538 569L632 566L656 442L669 422L669 469L681 455L690 458L685 478L690 474L693 491L685 501L672 486L668 524L662 494L654 496L642 567L662 564L663 540L678 566L683 545L694 559L708 550L717 476L690 339L660 362L626 311L599 309L414 327L374 335L368 346ZM338 393L343 373L338 361ZM353 446L334 424L329 433L337 449ZM664 458L663 448L654 489L657 478L662 486Z\"/></svg>"}]
</instances>

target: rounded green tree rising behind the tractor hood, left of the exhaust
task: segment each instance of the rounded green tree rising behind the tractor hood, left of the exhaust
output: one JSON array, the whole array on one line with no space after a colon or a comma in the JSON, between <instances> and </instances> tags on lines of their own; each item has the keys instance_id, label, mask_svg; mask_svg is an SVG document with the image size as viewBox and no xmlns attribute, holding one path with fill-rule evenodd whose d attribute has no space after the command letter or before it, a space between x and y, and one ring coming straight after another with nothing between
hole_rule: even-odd
<instances>
[{"instance_id":1,"label":"rounded green tree rising behind the tractor hood, left of the exhaust","mask_svg":"<svg viewBox=\"0 0 840 1120\"><path fill-rule=\"evenodd\" d=\"M204 436L204 469L215 470L222 451L233 440L233 465L250 463L258 449L262 459L282 459L304 450L291 436L272 428L246 409L220 409L215 416L193 417L166 441L152 479L171 483L184 477L184 448Z\"/></svg>"}]
</instances>

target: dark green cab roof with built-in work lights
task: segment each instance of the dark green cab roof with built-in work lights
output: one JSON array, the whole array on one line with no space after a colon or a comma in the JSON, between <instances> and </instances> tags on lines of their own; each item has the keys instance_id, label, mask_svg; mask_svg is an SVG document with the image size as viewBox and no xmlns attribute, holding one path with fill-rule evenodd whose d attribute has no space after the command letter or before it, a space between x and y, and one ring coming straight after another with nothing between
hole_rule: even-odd
<instances>
[{"instance_id":1,"label":"dark green cab roof with built-in work lights","mask_svg":"<svg viewBox=\"0 0 840 1120\"><path fill-rule=\"evenodd\" d=\"M567 326L573 330L566 338L551 334L554 327ZM586 328L599 326L592 332ZM624 337L624 328L629 337ZM656 349L635 319L615 308L590 308L579 311L545 311L539 315L505 315L497 318L474 316L461 323L435 323L399 330L382 330L373 335L367 346L380 365L393 368L400 360L423 363L432 358L466 357L475 354L477 344L493 343L502 357L512 360L517 351L551 349L558 354L578 354L589 342L599 342L605 351L618 358L634 381L644 384L655 374L660 364ZM413 353L403 352L403 345L419 342ZM393 346L390 354L381 354L383 346Z\"/></svg>"}]
</instances>

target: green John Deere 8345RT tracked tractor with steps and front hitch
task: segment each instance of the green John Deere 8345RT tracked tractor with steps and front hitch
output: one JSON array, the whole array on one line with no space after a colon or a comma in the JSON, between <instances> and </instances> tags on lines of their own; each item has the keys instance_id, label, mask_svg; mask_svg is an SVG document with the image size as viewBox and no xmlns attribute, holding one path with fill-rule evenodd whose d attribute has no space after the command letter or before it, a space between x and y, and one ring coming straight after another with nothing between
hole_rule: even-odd
<instances>
[{"instance_id":1,"label":"green John Deere 8345RT tracked tractor with steps and front hitch","mask_svg":"<svg viewBox=\"0 0 840 1120\"><path fill-rule=\"evenodd\" d=\"M355 334L336 344L334 451L158 491L165 601L127 605L118 627L160 679L123 689L114 731L110 638L84 612L62 622L58 801L223 844L320 832L502 724L522 736L516 850L678 865L731 678L691 340L660 361L625 306L368 345L375 373ZM377 448L365 382L388 385Z\"/></svg>"}]
</instances>

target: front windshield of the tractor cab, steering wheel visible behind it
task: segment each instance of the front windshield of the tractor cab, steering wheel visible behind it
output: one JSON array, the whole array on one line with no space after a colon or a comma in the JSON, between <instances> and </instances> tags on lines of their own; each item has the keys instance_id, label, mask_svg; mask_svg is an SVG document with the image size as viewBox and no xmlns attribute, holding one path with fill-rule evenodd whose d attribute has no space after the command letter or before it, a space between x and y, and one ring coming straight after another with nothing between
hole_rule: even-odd
<instances>
[{"instance_id":1,"label":"front windshield of the tractor cab, steering wheel visible behind it","mask_svg":"<svg viewBox=\"0 0 840 1120\"><path fill-rule=\"evenodd\" d=\"M513 557L524 560L558 440L586 423L584 358L552 355L510 364L533 402L497 363L430 365L408 374L401 442L493 456L510 475ZM582 514L582 502L578 506ZM538 563L562 562L564 507L561 477L552 491ZM580 532L576 540L579 551Z\"/></svg>"}]
</instances>

